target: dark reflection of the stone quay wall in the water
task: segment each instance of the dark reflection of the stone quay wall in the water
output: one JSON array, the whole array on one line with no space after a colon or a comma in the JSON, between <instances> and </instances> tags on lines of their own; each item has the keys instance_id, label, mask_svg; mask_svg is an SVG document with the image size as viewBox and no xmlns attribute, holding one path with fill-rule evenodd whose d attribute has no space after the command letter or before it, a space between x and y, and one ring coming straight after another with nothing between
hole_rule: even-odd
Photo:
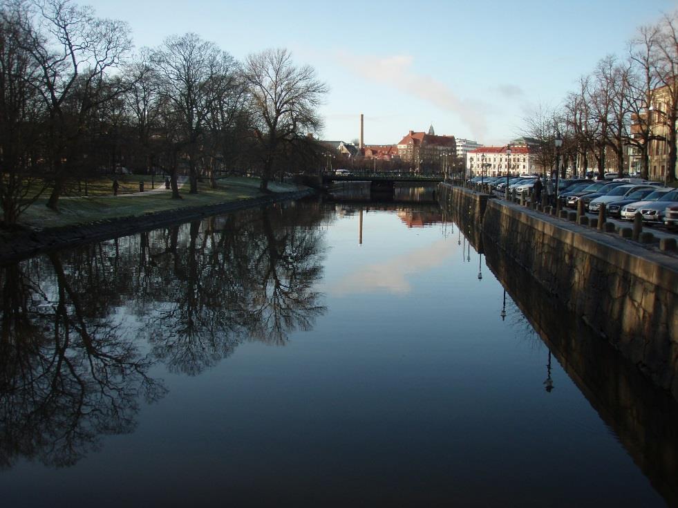
<instances>
[{"instance_id":1,"label":"dark reflection of the stone quay wall in the water","mask_svg":"<svg viewBox=\"0 0 678 508\"><path fill-rule=\"evenodd\" d=\"M545 389L554 389L552 355L563 366L634 462L670 506L678 506L678 404L637 368L567 312L536 279L502 252L469 218L454 216L510 299L549 348ZM506 307L501 311L506 316ZM585 451L583 451L585 453Z\"/></svg>"}]
</instances>

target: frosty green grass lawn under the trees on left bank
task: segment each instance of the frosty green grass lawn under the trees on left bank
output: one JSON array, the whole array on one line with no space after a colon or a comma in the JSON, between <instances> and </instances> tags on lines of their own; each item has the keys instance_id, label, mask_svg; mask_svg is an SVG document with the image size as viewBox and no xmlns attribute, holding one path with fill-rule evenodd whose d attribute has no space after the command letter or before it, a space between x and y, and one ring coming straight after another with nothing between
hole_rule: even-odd
<instances>
[{"instance_id":1,"label":"frosty green grass lawn under the trees on left bank","mask_svg":"<svg viewBox=\"0 0 678 508\"><path fill-rule=\"evenodd\" d=\"M96 220L116 217L140 216L154 211L165 211L187 207L200 207L213 203L224 203L246 198L262 196L258 189L257 178L220 178L216 189L209 188L208 182L198 183L198 194L188 194L188 182L180 188L182 199L172 199L171 191L164 189L164 180L156 182L156 191L138 192L139 176L126 176L136 184L135 194L119 194L113 196L112 183L106 194L97 195L88 185L88 196L64 196L59 199L59 212L45 206L46 196L37 200L21 214L19 223L32 229L59 227L91 223ZM148 177L150 182L150 176ZM113 180L111 180L112 182ZM122 189L122 181L120 189ZM77 185L77 184L76 184ZM150 183L147 189L150 189ZM119 189L119 193L120 193ZM274 192L290 192L298 190L296 185L270 182L269 189ZM103 189L102 189L103 191Z\"/></svg>"}]
</instances>

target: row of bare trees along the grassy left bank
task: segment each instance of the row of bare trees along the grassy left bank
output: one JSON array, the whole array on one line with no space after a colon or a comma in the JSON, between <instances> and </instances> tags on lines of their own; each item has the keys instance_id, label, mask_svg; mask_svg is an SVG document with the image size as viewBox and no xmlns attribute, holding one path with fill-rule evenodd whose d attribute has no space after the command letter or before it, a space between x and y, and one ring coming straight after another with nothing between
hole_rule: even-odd
<instances>
[{"instance_id":1,"label":"row of bare trees along the grassy left bank","mask_svg":"<svg viewBox=\"0 0 678 508\"><path fill-rule=\"evenodd\" d=\"M317 167L309 133L327 87L285 49L245 62L188 33L132 53L129 26L70 0L0 7L0 201L3 222L49 192L57 210L75 178L125 165L216 185L219 171ZM309 160L309 153L311 159Z\"/></svg>"}]
</instances>

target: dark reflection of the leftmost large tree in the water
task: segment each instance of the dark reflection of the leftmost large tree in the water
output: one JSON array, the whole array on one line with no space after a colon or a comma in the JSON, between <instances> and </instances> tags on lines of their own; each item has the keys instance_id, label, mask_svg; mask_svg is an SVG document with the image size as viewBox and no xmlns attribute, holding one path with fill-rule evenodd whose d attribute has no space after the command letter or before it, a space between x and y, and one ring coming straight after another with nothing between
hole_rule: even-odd
<instances>
[{"instance_id":1,"label":"dark reflection of the leftmost large tree in the water","mask_svg":"<svg viewBox=\"0 0 678 508\"><path fill-rule=\"evenodd\" d=\"M67 466L100 435L132 431L140 395L164 394L147 375L151 358L97 315L100 305L84 305L97 293L77 290L59 254L1 273L0 464Z\"/></svg>"}]
</instances>

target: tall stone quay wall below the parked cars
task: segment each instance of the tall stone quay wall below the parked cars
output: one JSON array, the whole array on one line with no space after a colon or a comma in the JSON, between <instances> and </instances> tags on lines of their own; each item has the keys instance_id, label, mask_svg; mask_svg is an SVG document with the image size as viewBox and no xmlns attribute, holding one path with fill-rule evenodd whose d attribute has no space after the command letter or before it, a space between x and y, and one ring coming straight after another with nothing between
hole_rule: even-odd
<instances>
[{"instance_id":1,"label":"tall stone quay wall below the parked cars","mask_svg":"<svg viewBox=\"0 0 678 508\"><path fill-rule=\"evenodd\" d=\"M492 241L655 384L678 399L678 260L505 200L441 184L441 201ZM555 307L553 312L558 312Z\"/></svg>"}]
</instances>

